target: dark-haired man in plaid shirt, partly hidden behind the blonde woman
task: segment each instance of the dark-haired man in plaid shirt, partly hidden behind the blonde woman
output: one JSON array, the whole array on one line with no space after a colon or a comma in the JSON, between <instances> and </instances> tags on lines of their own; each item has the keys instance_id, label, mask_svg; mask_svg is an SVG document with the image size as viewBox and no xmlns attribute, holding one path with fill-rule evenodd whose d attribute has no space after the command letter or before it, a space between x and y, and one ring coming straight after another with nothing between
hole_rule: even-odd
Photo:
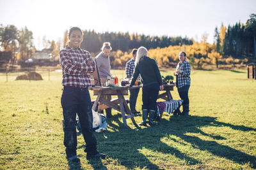
<instances>
[{"instance_id":1,"label":"dark-haired man in plaid shirt, partly hidden behind the blonde woman","mask_svg":"<svg viewBox=\"0 0 256 170\"><path fill-rule=\"evenodd\" d=\"M125 66L125 73L127 78L132 78L132 74L135 68L135 60L136 60L136 55L137 55L137 49L134 48L132 50L132 59L127 61L126 66ZM135 113L140 113L140 111L136 111L136 101L138 94L140 92L140 89L130 89L130 109L133 114Z\"/></svg>"}]
</instances>

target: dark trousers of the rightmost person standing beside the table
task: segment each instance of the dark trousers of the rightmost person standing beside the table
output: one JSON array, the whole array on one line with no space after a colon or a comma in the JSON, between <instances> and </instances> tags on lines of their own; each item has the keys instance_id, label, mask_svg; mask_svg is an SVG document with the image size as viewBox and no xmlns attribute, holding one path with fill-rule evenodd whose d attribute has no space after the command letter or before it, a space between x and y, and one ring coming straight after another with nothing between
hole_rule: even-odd
<instances>
[{"instance_id":1,"label":"dark trousers of the rightmost person standing beside the table","mask_svg":"<svg viewBox=\"0 0 256 170\"><path fill-rule=\"evenodd\" d=\"M183 115L189 115L189 98L188 98L188 90L190 85L185 85L184 87L178 88L180 99L183 100Z\"/></svg>"}]
</instances>

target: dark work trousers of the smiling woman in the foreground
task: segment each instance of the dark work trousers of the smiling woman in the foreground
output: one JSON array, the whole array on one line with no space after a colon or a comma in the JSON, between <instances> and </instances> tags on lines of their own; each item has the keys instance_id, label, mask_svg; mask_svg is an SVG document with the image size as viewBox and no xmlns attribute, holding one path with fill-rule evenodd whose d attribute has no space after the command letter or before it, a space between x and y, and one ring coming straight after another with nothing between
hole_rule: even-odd
<instances>
[{"instance_id":1,"label":"dark work trousers of the smiling woman in the foreground","mask_svg":"<svg viewBox=\"0 0 256 170\"><path fill-rule=\"evenodd\" d=\"M88 88L64 87L61 96L64 118L64 145L67 157L76 155L76 113L82 128L87 153L97 152L97 140L92 129L92 103Z\"/></svg>"}]
</instances>

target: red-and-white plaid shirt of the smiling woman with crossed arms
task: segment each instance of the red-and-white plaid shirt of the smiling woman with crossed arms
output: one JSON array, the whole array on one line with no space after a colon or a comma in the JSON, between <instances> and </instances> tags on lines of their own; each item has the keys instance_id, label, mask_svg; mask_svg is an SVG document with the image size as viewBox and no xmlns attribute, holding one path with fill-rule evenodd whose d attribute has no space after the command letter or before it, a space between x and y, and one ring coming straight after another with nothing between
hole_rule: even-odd
<instances>
[{"instance_id":1,"label":"red-and-white plaid shirt of the smiling woman with crossed arms","mask_svg":"<svg viewBox=\"0 0 256 170\"><path fill-rule=\"evenodd\" d=\"M85 88L90 87L90 73L95 71L95 61L88 65L87 62L93 60L86 50L66 46L60 51L60 66L62 68L63 86Z\"/></svg>"}]
</instances>

